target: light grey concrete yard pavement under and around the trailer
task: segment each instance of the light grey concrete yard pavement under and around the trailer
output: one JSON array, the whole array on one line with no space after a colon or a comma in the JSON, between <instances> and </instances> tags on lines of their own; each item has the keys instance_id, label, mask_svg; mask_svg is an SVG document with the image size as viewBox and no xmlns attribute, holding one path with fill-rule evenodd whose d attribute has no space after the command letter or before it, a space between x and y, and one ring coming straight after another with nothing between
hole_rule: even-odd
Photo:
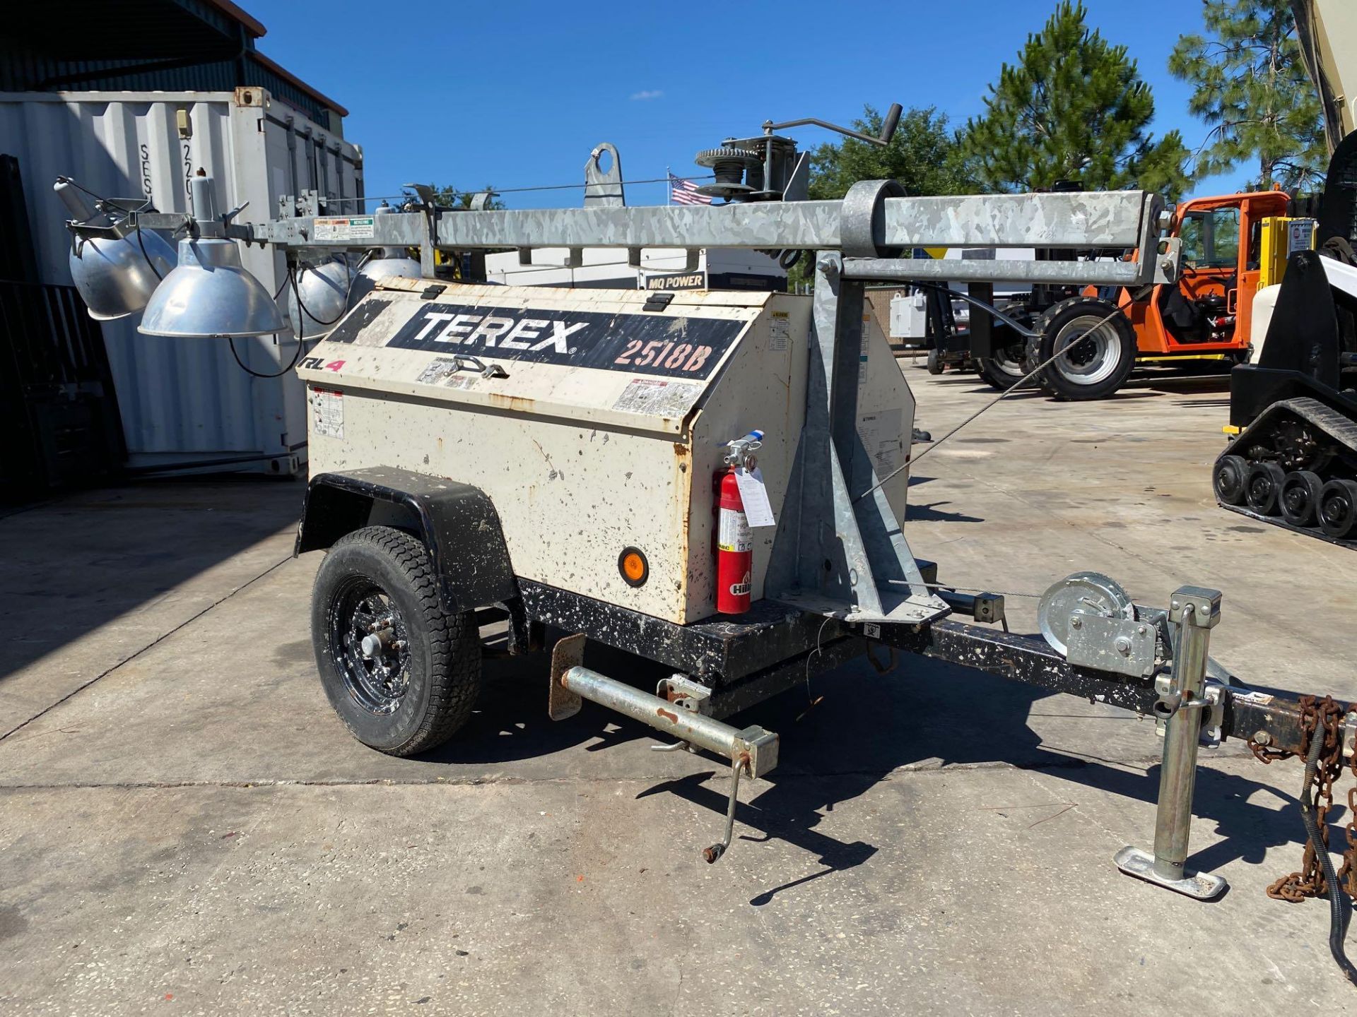
<instances>
[{"instance_id":1,"label":"light grey concrete yard pavement under and around the trailer","mask_svg":"<svg viewBox=\"0 0 1357 1017\"><path fill-rule=\"evenodd\" d=\"M989 397L906 369L935 437ZM1039 593L1079 568L1143 602L1225 591L1212 651L1357 698L1349 552L1212 502L1223 381L1099 404L1018 396L915 472L943 579ZM301 488L138 484L0 518L0 1010L69 1013L1234 1014L1350 1010L1300 857L1295 762L1208 754L1202 904L1121 876L1148 845L1153 725L904 659L746 715L783 763L741 786L649 751L544 662L487 669L421 759L351 740L289 557ZM1034 599L1010 598L1019 631ZM1339 796L1341 797L1341 796ZM1346 822L1335 810L1337 822ZM1342 842L1334 830L1334 843Z\"/></svg>"}]
</instances>

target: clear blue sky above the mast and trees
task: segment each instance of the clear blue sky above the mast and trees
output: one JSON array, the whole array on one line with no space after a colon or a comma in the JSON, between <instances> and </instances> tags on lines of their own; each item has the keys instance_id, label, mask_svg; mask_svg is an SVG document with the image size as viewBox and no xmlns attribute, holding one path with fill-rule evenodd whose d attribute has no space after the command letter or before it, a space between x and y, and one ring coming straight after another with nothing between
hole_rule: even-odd
<instances>
[{"instance_id":1,"label":"clear blue sky above the mast and trees","mask_svg":"<svg viewBox=\"0 0 1357 1017\"><path fill-rule=\"evenodd\" d=\"M982 96L1054 0L944 3L429 3L243 0L269 54L349 108L366 191L419 180L478 188L581 183L589 151L613 142L628 180L702 172L695 152L759 132L767 118L845 123L863 103L936 106L954 123ZM1166 68L1201 30L1194 0L1087 0L1088 20L1124 43L1155 94L1158 134L1204 126ZM828 137L794 132L801 146ZM1234 190L1239 172L1197 194ZM505 195L510 207L577 205L577 191ZM630 205L664 184L627 188Z\"/></svg>"}]
</instances>

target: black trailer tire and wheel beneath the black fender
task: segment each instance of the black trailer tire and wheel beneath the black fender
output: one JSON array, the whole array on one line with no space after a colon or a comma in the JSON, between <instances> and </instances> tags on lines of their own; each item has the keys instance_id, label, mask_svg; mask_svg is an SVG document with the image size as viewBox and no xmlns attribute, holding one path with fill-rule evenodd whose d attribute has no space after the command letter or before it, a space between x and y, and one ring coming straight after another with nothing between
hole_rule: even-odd
<instances>
[{"instance_id":1,"label":"black trailer tire and wheel beneath the black fender","mask_svg":"<svg viewBox=\"0 0 1357 1017\"><path fill-rule=\"evenodd\" d=\"M362 633L377 640L372 655L360 648ZM475 616L442 609L427 549L388 526L356 530L326 553L311 594L311 643L345 727L391 755L446 742L480 692Z\"/></svg>"}]
</instances>

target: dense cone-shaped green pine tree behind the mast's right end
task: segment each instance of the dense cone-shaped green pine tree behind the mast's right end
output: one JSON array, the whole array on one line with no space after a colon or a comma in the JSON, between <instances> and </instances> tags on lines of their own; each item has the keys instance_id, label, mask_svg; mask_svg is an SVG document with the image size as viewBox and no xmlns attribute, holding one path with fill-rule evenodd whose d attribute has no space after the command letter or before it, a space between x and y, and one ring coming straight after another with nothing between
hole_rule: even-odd
<instances>
[{"instance_id":1,"label":"dense cone-shaped green pine tree behind the mast's right end","mask_svg":"<svg viewBox=\"0 0 1357 1017\"><path fill-rule=\"evenodd\" d=\"M1087 14L1063 0L1018 62L1003 65L985 115L966 123L972 172L999 191L1076 180L1086 190L1141 187L1177 198L1189 184L1182 136L1149 133L1149 85L1125 46L1088 28Z\"/></svg>"}]
</instances>

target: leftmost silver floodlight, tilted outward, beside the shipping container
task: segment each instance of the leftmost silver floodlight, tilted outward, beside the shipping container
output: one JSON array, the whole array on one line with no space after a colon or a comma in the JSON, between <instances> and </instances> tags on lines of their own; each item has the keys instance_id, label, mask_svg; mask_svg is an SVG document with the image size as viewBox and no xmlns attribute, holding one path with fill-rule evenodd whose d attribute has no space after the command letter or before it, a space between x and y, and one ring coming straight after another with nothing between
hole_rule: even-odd
<instances>
[{"instance_id":1,"label":"leftmost silver floodlight, tilted outward, beside the shipping container","mask_svg":"<svg viewBox=\"0 0 1357 1017\"><path fill-rule=\"evenodd\" d=\"M140 226L129 231L125 222L91 225L100 213L65 178L53 190L73 216L71 278L90 317L111 321L141 311L160 279L174 270L174 248L159 233Z\"/></svg>"}]
</instances>

